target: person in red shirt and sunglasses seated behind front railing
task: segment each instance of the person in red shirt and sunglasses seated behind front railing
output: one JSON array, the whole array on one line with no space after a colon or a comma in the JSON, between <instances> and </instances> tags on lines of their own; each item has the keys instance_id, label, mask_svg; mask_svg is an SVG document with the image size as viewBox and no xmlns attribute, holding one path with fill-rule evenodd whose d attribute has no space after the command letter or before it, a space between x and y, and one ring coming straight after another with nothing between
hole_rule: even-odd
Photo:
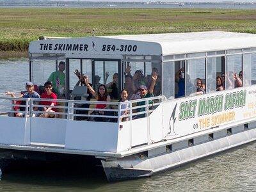
<instances>
[{"instance_id":1,"label":"person in red shirt and sunglasses seated behind front railing","mask_svg":"<svg viewBox=\"0 0 256 192\"><path fill-rule=\"evenodd\" d=\"M40 115L40 117L54 117L55 116L55 112L57 111L55 108L52 108L53 106L56 106L57 102L57 95L55 93L52 92L52 83L51 81L47 81L44 84L44 88L45 88L45 92L41 95L41 99L52 99L52 101L45 101L42 100L40 102L40 105L45 106L42 108L42 111L44 111L44 113L42 113Z\"/></svg>"}]
</instances>

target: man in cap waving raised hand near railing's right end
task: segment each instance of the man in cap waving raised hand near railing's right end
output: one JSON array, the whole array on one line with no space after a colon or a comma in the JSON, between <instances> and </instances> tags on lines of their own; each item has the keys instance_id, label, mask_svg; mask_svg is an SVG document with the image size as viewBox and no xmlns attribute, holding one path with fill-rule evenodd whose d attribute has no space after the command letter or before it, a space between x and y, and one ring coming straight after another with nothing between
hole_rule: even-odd
<instances>
[{"instance_id":1,"label":"man in cap waving raised hand near railing's right end","mask_svg":"<svg viewBox=\"0 0 256 192\"><path fill-rule=\"evenodd\" d=\"M140 97L141 99L145 99L145 98L149 98L149 97L154 97L154 86L156 84L156 80L157 80L157 73L154 72L152 74L152 83L150 84L150 88L149 90L147 89L147 86L141 84L139 91L140 91ZM137 106L143 106L145 105L145 101L141 101L137 103ZM142 112L145 111L145 107L143 108L139 108L137 110L137 112ZM137 115L135 118L143 118L145 117L145 114L141 114L141 115Z\"/></svg>"}]
</instances>

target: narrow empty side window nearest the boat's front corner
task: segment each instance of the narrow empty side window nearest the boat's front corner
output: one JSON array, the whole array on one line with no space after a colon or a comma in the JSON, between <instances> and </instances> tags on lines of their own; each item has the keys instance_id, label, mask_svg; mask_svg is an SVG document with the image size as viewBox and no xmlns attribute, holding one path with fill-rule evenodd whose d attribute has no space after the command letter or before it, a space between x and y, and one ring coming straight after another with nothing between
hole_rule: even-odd
<instances>
[{"instance_id":1,"label":"narrow empty side window nearest the boat's front corner","mask_svg":"<svg viewBox=\"0 0 256 192\"><path fill-rule=\"evenodd\" d=\"M174 98L174 78L172 74L174 74L174 62L165 62L163 65L163 95L167 99Z\"/></svg>"}]
</instances>

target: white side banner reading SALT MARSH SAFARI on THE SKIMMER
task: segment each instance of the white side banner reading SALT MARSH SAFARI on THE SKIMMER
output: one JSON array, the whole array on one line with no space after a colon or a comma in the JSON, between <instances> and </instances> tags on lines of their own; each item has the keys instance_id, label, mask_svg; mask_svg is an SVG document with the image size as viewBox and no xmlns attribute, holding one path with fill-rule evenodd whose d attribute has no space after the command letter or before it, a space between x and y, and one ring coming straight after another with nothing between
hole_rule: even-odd
<instances>
[{"instance_id":1,"label":"white side banner reading SALT MARSH SAFARI on THE SKIMMER","mask_svg":"<svg viewBox=\"0 0 256 192\"><path fill-rule=\"evenodd\" d=\"M256 116L256 86L164 103L164 135L186 135Z\"/></svg>"}]
</instances>

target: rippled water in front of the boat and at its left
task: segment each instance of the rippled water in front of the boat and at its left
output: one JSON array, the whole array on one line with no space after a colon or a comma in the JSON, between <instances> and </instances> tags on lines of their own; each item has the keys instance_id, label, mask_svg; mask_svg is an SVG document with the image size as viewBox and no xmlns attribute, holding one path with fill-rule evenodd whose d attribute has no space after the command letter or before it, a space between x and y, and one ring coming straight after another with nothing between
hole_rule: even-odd
<instances>
[{"instance_id":1,"label":"rippled water in front of the boat and at its left","mask_svg":"<svg viewBox=\"0 0 256 192\"><path fill-rule=\"evenodd\" d=\"M27 58L0 60L0 92L24 88L28 69ZM255 147L249 143L147 179L111 184L98 172L15 169L3 173L0 191L255 191Z\"/></svg>"}]
</instances>

